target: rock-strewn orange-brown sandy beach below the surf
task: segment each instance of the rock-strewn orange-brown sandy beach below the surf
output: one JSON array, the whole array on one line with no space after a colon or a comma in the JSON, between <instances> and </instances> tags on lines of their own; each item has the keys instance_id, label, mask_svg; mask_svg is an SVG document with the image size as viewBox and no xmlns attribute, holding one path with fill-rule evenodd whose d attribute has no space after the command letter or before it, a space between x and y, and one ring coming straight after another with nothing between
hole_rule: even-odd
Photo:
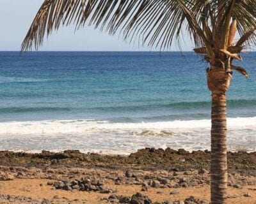
<instances>
[{"instance_id":1,"label":"rock-strewn orange-brown sandy beach below the surf","mask_svg":"<svg viewBox=\"0 0 256 204\"><path fill-rule=\"evenodd\" d=\"M209 203L211 153L0 152L0 203ZM228 152L229 203L256 203L256 152Z\"/></svg>"}]
</instances>

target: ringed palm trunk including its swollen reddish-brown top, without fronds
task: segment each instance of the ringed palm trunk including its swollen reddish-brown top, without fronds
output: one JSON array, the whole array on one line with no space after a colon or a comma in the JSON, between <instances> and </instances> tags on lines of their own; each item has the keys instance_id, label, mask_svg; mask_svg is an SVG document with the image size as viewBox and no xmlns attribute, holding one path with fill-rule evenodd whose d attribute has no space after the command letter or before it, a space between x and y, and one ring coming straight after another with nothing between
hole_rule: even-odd
<instances>
[{"instance_id":1,"label":"ringed palm trunk including its swollen reddish-brown top, without fronds","mask_svg":"<svg viewBox=\"0 0 256 204\"><path fill-rule=\"evenodd\" d=\"M211 204L227 204L227 103L231 75L223 68L207 69L212 92Z\"/></svg>"}]
</instances>

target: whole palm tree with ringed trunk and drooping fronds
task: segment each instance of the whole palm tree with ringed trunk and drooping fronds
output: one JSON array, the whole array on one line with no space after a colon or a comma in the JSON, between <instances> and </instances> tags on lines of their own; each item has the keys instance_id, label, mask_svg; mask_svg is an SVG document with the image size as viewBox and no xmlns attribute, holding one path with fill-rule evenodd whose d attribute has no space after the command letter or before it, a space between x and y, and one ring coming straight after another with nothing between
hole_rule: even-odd
<instances>
[{"instance_id":1,"label":"whole palm tree with ringed trunk and drooping fronds","mask_svg":"<svg viewBox=\"0 0 256 204\"><path fill-rule=\"evenodd\" d=\"M241 51L256 42L255 0L45 0L22 43L37 50L44 36L61 25L79 29L94 25L124 40L168 49L182 32L189 33L195 52L209 63L207 84L212 92L211 203L227 203L226 92ZM234 41L239 36L238 41Z\"/></svg>"}]
</instances>

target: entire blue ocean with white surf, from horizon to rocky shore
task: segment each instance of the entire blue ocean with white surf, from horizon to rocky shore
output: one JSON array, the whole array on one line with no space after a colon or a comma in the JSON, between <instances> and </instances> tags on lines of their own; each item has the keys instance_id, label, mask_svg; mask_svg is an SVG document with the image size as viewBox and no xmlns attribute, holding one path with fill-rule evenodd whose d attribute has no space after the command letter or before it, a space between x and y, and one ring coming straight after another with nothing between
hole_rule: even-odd
<instances>
[{"instance_id":1,"label":"entire blue ocean with white surf, from horizon to rocky shore","mask_svg":"<svg viewBox=\"0 0 256 204\"><path fill-rule=\"evenodd\" d=\"M228 150L256 150L256 53L228 98ZM0 150L210 149L207 63L193 52L0 52Z\"/></svg>"}]
</instances>

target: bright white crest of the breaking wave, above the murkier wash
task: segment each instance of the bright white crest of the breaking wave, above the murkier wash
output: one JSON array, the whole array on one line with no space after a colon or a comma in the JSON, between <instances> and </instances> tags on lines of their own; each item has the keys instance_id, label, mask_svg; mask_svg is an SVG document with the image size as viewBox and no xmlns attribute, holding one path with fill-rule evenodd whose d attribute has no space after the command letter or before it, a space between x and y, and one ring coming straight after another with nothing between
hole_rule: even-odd
<instances>
[{"instance_id":1,"label":"bright white crest of the breaking wave, above the murkier wash","mask_svg":"<svg viewBox=\"0 0 256 204\"><path fill-rule=\"evenodd\" d=\"M256 128L256 117L237 117L227 119L228 128ZM15 135L53 135L53 134L84 134L99 131L129 131L144 135L143 129L152 130L145 135L154 135L159 131L163 135L172 135L167 129L201 129L210 128L211 120L173 120L168 122L112 123L108 120L40 120L24 122L1 122L0 136ZM160 132L162 131L162 132Z\"/></svg>"}]
</instances>

